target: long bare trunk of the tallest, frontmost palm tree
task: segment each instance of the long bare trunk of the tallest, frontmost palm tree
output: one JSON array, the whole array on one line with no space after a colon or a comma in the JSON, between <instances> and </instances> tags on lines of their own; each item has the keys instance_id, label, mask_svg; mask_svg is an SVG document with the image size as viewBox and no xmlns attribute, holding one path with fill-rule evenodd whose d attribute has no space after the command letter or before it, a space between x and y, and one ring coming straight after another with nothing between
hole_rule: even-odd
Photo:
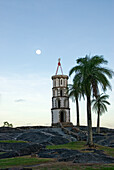
<instances>
[{"instance_id":1,"label":"long bare trunk of the tallest, frontmost palm tree","mask_svg":"<svg viewBox=\"0 0 114 170\"><path fill-rule=\"evenodd\" d=\"M88 141L87 141L87 145L93 146L90 96L87 96L87 123L88 123Z\"/></svg>"}]
</instances>

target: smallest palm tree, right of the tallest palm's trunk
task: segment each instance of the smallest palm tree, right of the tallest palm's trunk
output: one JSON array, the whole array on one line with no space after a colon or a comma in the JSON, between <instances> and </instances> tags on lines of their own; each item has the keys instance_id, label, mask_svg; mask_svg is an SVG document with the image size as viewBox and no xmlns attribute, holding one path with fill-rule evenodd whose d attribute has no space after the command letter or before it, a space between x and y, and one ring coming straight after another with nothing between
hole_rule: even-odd
<instances>
[{"instance_id":1,"label":"smallest palm tree, right of the tallest palm's trunk","mask_svg":"<svg viewBox=\"0 0 114 170\"><path fill-rule=\"evenodd\" d=\"M110 105L110 103L106 100L109 98L109 95L101 94L98 95L96 99L92 100L93 110L97 113L97 133L100 133L100 116L102 113L107 112L106 105Z\"/></svg>"}]
</instances>

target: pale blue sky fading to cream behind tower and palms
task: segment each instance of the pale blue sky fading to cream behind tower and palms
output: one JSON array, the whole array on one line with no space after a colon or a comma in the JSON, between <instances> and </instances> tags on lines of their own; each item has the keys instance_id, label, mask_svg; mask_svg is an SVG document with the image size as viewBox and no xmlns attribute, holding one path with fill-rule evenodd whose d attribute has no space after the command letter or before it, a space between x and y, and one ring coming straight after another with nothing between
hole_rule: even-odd
<instances>
[{"instance_id":1,"label":"pale blue sky fading to cream behind tower and palms","mask_svg":"<svg viewBox=\"0 0 114 170\"><path fill-rule=\"evenodd\" d=\"M58 58L64 74L86 54L104 55L113 69L113 45L113 0L0 0L0 125L6 120L15 126L50 125L51 76ZM113 90L108 94L111 106L101 125L114 127ZM85 102L80 109L86 124Z\"/></svg>"}]
</instances>

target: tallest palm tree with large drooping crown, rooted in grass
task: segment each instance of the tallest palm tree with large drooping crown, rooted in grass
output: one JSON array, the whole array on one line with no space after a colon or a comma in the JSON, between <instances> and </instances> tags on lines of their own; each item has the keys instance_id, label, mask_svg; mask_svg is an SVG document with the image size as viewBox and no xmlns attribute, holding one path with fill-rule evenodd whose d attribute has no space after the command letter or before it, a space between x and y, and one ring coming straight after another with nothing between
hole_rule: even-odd
<instances>
[{"instance_id":1,"label":"tallest palm tree with large drooping crown, rooted in grass","mask_svg":"<svg viewBox=\"0 0 114 170\"><path fill-rule=\"evenodd\" d=\"M105 67L101 67L101 64L107 64L103 56L85 56L84 58L77 59L77 64L73 67L69 75L75 73L74 79L76 82L81 83L81 90L84 92L87 98L87 124L88 124L88 141L89 146L93 145L92 136L92 120L91 120L91 95L97 97L98 85L101 85L103 91L106 91L107 87L111 89L108 78L112 78L114 72Z\"/></svg>"}]
</instances>

